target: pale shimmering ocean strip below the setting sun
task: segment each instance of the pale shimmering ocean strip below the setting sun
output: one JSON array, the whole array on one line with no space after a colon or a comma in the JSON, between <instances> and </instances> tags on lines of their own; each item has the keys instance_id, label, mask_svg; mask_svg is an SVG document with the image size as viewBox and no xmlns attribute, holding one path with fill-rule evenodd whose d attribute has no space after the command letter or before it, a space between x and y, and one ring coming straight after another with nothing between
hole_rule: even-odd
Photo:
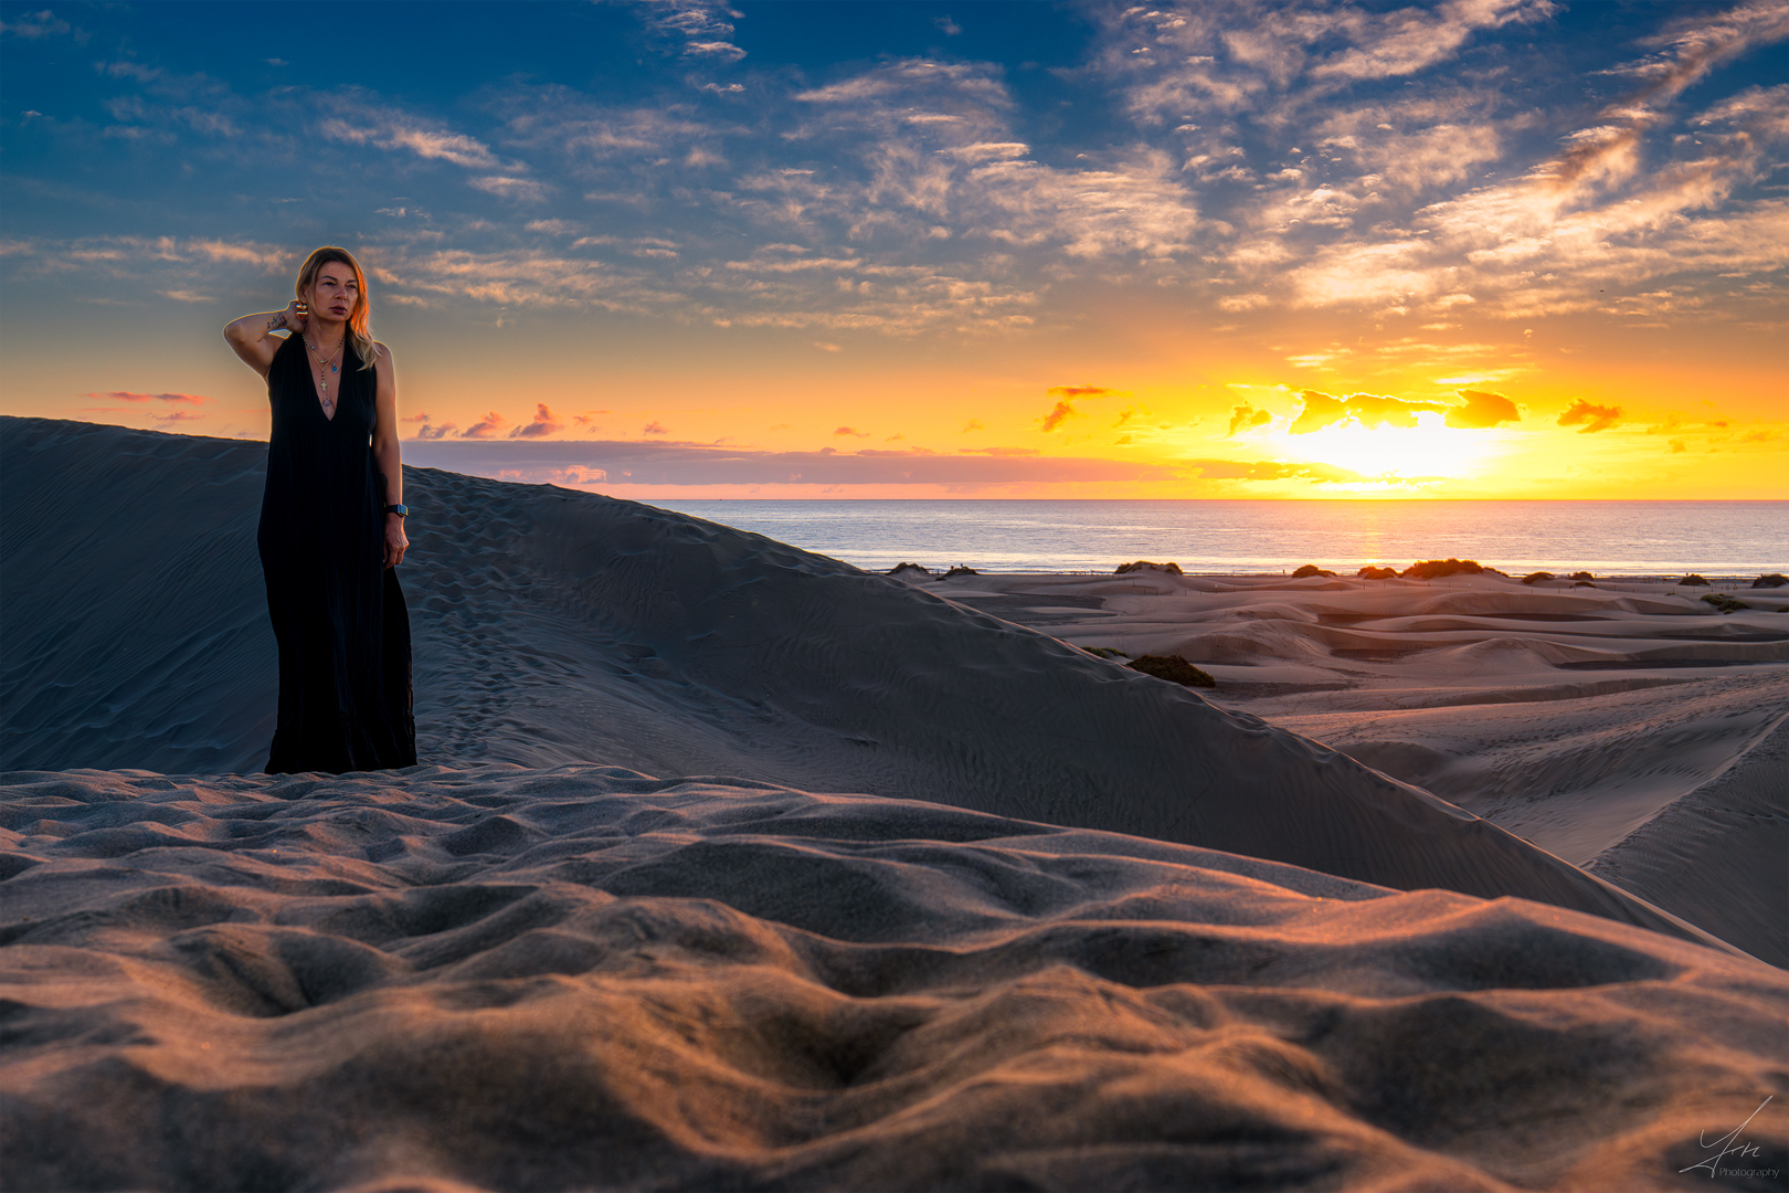
<instances>
[{"instance_id":1,"label":"pale shimmering ocean strip below the setting sun","mask_svg":"<svg viewBox=\"0 0 1789 1193\"><path fill-rule=\"evenodd\" d=\"M1789 501L655 501L868 571L1188 572L1471 558L1506 572L1789 572Z\"/></svg>"}]
</instances>

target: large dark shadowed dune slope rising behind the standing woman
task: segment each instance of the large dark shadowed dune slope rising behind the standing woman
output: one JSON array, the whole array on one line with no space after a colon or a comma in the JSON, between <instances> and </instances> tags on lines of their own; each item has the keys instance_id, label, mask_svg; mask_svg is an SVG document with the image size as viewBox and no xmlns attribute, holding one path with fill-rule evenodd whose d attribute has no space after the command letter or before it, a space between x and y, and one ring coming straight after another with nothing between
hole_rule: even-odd
<instances>
[{"instance_id":1,"label":"large dark shadowed dune slope rising behind the standing woman","mask_svg":"<svg viewBox=\"0 0 1789 1193\"><path fill-rule=\"evenodd\" d=\"M5 419L9 767L249 771L265 447ZM732 773L1136 833L1710 941L1360 762L767 538L406 472L422 755Z\"/></svg>"}]
</instances>

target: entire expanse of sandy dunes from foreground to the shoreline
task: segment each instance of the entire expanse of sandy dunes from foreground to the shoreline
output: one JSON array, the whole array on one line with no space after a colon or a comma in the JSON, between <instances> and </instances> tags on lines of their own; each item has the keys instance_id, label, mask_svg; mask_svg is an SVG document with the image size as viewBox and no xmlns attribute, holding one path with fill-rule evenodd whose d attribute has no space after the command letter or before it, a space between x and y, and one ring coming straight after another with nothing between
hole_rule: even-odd
<instances>
[{"instance_id":1,"label":"entire expanse of sandy dunes from foreground to the shoreline","mask_svg":"<svg viewBox=\"0 0 1789 1193\"><path fill-rule=\"evenodd\" d=\"M14 1188L1789 1157L1789 588L891 578L410 469L424 766L267 776L265 447L0 453Z\"/></svg>"}]
</instances>

